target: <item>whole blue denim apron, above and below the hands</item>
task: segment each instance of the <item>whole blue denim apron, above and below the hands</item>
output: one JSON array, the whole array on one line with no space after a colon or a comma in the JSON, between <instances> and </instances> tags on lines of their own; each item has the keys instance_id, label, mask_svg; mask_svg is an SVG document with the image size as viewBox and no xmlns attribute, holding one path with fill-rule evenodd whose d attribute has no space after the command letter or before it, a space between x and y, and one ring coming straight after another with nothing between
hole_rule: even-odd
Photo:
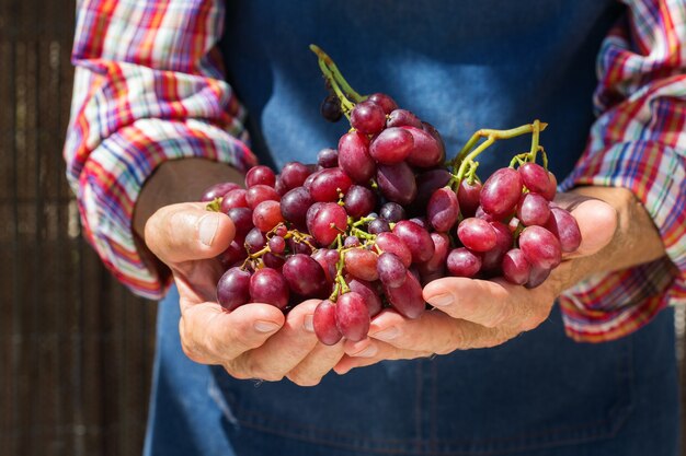
<instances>
[{"instance_id":1,"label":"whole blue denim apron, above and below the hands","mask_svg":"<svg viewBox=\"0 0 686 456\"><path fill-rule=\"evenodd\" d=\"M319 115L316 43L361 93L389 93L454 154L479 128L549 122L561 178L593 121L594 61L622 12L606 0L229 2L221 43L252 148L312 162L345 131ZM498 144L479 174L529 138ZM557 306L493 349L382 362L317 387L237 381L181 351L175 290L160 303L147 455L678 454L672 311L621 340L575 343Z\"/></svg>"}]
</instances>

